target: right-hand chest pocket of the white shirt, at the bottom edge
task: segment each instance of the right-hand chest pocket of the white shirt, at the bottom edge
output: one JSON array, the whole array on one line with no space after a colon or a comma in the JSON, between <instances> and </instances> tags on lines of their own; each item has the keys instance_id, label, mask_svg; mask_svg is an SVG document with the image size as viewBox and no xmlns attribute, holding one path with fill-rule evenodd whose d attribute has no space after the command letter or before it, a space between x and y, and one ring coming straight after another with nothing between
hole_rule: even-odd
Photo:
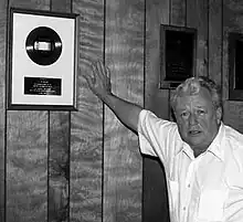
<instances>
[{"instance_id":1,"label":"right-hand chest pocket of the white shirt, at the bottom edge","mask_svg":"<svg viewBox=\"0 0 243 222\"><path fill-rule=\"evenodd\" d=\"M198 221L223 222L228 190L204 190L200 195Z\"/></svg>"}]
</instances>

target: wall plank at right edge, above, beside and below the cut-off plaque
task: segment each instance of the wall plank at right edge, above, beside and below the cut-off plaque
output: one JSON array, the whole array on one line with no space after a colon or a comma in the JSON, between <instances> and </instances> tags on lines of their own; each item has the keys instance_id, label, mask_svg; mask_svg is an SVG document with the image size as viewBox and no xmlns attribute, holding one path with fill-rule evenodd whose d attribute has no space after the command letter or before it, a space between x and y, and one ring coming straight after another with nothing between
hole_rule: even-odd
<instances>
[{"instance_id":1,"label":"wall plank at right edge, above, beside and below the cut-off plaque","mask_svg":"<svg viewBox=\"0 0 243 222\"><path fill-rule=\"evenodd\" d=\"M243 33L243 2L235 0L223 0L223 99L224 103L224 123L229 124L240 131L242 126L242 102L231 102L229 99L229 32Z\"/></svg>"}]
</instances>

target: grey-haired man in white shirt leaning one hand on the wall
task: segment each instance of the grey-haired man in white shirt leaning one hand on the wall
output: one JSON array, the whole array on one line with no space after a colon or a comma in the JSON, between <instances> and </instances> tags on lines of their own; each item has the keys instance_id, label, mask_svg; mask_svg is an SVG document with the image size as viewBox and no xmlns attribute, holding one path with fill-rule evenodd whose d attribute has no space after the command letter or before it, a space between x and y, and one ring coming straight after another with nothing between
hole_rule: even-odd
<instances>
[{"instance_id":1,"label":"grey-haired man in white shirt leaning one hand on the wall","mask_svg":"<svg viewBox=\"0 0 243 222\"><path fill-rule=\"evenodd\" d=\"M115 96L101 62L86 81L138 133L141 152L162 161L171 222L243 221L243 135L222 123L214 82L191 77L179 85L171 97L173 123Z\"/></svg>"}]
</instances>

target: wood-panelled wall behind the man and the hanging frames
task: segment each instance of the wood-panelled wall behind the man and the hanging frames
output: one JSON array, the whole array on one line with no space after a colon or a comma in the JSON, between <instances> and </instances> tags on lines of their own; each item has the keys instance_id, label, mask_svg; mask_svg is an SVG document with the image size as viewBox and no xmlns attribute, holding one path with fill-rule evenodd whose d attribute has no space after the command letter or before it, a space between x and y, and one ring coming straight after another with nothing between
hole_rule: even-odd
<instances>
[{"instance_id":1,"label":"wood-panelled wall behind the man and the hanging frames","mask_svg":"<svg viewBox=\"0 0 243 222\"><path fill-rule=\"evenodd\" d=\"M78 13L77 112L7 110L10 7ZM162 166L87 88L91 60L113 92L170 118L159 89L160 24L198 30L197 74L223 87L224 121L243 131L243 103L228 101L228 33L243 33L235 0L2 0L0 2L0 221L169 221Z\"/></svg>"}]
</instances>

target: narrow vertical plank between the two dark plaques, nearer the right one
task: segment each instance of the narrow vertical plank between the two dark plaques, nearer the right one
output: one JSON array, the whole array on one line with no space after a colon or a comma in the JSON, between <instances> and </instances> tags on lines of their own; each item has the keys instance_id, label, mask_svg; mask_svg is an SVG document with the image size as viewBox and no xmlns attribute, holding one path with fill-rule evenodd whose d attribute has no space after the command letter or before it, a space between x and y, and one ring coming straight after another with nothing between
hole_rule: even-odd
<instances>
[{"instance_id":1,"label":"narrow vertical plank between the two dark plaques, nearer the right one","mask_svg":"<svg viewBox=\"0 0 243 222\"><path fill-rule=\"evenodd\" d=\"M222 82L222 0L209 0L209 76Z\"/></svg>"}]
</instances>

